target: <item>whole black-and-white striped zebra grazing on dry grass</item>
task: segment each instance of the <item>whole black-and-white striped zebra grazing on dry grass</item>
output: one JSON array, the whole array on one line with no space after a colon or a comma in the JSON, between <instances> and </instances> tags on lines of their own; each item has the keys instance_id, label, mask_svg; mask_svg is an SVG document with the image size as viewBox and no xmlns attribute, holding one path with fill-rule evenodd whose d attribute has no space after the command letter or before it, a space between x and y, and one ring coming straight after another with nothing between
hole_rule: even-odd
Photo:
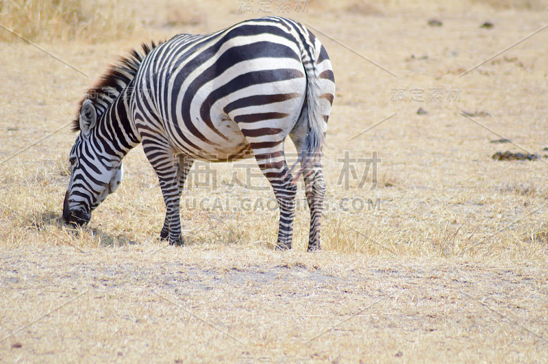
<instances>
[{"instance_id":1,"label":"whole black-and-white striped zebra grazing on dry grass","mask_svg":"<svg viewBox=\"0 0 548 364\"><path fill-rule=\"evenodd\" d=\"M179 198L192 163L254 156L279 206L277 248L291 248L295 178L303 174L308 250L318 250L325 194L321 148L334 94L325 48L286 18L143 44L112 66L80 105L63 218L86 224L121 182L123 157L142 143L166 203L160 237L183 244ZM299 153L295 178L284 155L287 135Z\"/></svg>"}]
</instances>

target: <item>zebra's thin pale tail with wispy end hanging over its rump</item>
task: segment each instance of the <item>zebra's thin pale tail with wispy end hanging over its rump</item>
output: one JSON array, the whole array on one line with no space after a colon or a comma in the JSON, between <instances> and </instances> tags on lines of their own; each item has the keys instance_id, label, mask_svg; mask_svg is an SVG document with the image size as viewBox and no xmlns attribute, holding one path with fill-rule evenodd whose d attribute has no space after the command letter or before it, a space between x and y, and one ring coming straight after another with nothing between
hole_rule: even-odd
<instances>
[{"instance_id":1,"label":"zebra's thin pale tail with wispy end hanging over its rump","mask_svg":"<svg viewBox=\"0 0 548 364\"><path fill-rule=\"evenodd\" d=\"M293 183L297 181L299 176L303 173L304 168L309 163L314 163L316 157L318 157L325 144L325 135L322 130L323 119L320 106L320 86L318 79L318 69L316 68L316 62L311 58L309 60L303 60L303 66L306 72L306 108L307 108L307 132L304 140L304 146L299 153L299 159L295 166L300 162L301 168L293 178Z\"/></svg>"}]
</instances>

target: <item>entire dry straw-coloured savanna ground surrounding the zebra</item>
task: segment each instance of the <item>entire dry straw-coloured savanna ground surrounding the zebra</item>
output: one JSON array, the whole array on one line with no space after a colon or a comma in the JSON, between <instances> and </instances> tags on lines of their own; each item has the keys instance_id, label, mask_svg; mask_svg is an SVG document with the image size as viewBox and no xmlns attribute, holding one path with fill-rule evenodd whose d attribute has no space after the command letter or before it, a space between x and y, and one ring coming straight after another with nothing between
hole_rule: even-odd
<instances>
[{"instance_id":1,"label":"entire dry straw-coloured savanna ground surrounding the zebra","mask_svg":"<svg viewBox=\"0 0 548 364\"><path fill-rule=\"evenodd\" d=\"M196 166L187 245L160 242L140 147L86 228L60 223L68 124L105 67L277 1L53 3L0 8L0 361L548 361L544 1L277 13L317 29L337 83L323 251L308 254L303 193L294 249L277 252L273 195L249 162ZM507 150L538 159L491 158Z\"/></svg>"}]
</instances>

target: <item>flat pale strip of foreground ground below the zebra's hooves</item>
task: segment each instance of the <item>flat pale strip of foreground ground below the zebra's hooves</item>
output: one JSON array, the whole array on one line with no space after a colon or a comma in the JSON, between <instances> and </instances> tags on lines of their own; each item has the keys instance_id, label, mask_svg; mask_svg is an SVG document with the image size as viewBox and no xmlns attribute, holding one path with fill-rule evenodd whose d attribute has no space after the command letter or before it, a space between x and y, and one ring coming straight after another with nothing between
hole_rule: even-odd
<instances>
[{"instance_id":1,"label":"flat pale strip of foreground ground below the zebra's hooves","mask_svg":"<svg viewBox=\"0 0 548 364\"><path fill-rule=\"evenodd\" d=\"M16 333L1 358L546 360L548 275L533 264L158 250L3 251L16 269L3 270L0 319Z\"/></svg>"}]
</instances>

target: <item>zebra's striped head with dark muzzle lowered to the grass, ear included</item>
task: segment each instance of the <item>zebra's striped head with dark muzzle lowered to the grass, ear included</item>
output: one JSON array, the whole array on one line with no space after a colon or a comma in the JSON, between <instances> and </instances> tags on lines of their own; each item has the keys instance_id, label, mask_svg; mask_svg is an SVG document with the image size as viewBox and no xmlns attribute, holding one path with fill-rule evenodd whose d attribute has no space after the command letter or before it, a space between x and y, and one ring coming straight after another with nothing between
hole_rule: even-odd
<instances>
[{"instance_id":1,"label":"zebra's striped head with dark muzzle lowered to the grass, ear included","mask_svg":"<svg viewBox=\"0 0 548 364\"><path fill-rule=\"evenodd\" d=\"M120 185L123 176L121 158L107 151L96 128L97 110L90 100L80 108L80 133L71 150L71 181L63 203L63 220L82 226L91 212Z\"/></svg>"}]
</instances>

